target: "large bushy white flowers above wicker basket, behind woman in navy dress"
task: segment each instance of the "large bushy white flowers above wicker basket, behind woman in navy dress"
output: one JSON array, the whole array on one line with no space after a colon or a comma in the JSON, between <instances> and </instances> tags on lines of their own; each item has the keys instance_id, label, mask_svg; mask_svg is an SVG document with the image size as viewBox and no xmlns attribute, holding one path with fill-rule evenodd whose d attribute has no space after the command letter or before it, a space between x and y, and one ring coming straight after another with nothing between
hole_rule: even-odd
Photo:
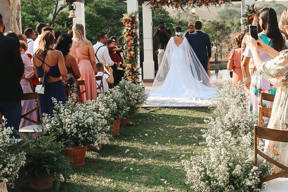
<instances>
[{"instance_id":1,"label":"large bushy white flowers above wicker basket, behind woman in navy dress","mask_svg":"<svg viewBox=\"0 0 288 192\"><path fill-rule=\"evenodd\" d=\"M95 101L74 104L72 99L65 104L57 103L53 116L45 114L44 133L56 133L57 140L70 146L97 146L101 136L110 129L109 110Z\"/></svg>"}]
</instances>

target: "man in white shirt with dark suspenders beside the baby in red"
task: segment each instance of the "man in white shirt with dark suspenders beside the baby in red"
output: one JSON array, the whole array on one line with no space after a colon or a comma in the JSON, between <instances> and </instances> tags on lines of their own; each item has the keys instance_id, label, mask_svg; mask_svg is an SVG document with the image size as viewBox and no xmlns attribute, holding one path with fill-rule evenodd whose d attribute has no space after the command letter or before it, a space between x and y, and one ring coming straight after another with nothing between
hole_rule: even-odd
<instances>
[{"instance_id":1,"label":"man in white shirt with dark suspenders beside the baby in red","mask_svg":"<svg viewBox=\"0 0 288 192\"><path fill-rule=\"evenodd\" d=\"M98 32L97 33L97 43L93 45L96 61L105 64L108 64L110 67L114 67L114 61L111 60L108 48L106 46L107 42L107 33L105 32ZM115 65L116 66L116 65ZM115 70L113 69L113 79L115 77Z\"/></svg>"}]
</instances>

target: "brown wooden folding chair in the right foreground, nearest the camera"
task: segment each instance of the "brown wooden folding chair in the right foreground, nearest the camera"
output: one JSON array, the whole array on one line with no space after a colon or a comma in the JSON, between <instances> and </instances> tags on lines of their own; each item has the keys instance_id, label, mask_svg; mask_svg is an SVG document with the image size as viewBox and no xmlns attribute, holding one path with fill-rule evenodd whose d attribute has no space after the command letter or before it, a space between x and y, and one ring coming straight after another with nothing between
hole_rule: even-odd
<instances>
[{"instance_id":1,"label":"brown wooden folding chair in the right foreground, nearest the camera","mask_svg":"<svg viewBox=\"0 0 288 192\"><path fill-rule=\"evenodd\" d=\"M266 159L273 165L279 167L282 169L281 172L266 176L264 178L260 179L260 182L266 182L270 181L272 179L276 179L278 177L282 177L284 175L288 174L288 167L286 167L283 164L280 164L279 162L275 161L274 159L268 157L263 152L258 150L257 148L257 140L258 138L271 140L271 141L277 141L277 142L286 142L288 143L288 132L287 131L281 131L276 129L269 129L259 126L254 126L254 164L257 166L257 154L259 154L262 158Z\"/></svg>"}]
</instances>

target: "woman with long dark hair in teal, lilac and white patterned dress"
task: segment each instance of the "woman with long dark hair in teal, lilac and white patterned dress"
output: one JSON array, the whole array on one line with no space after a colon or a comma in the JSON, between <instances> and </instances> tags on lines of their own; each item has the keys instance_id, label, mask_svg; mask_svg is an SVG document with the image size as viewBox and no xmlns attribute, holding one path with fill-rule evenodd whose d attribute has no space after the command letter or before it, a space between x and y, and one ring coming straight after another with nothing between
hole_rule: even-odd
<instances>
[{"instance_id":1,"label":"woman with long dark hair in teal, lilac and white patterned dress","mask_svg":"<svg viewBox=\"0 0 288 192\"><path fill-rule=\"evenodd\" d=\"M286 37L279 31L277 14L274 9L266 7L261 10L259 25L263 29L263 31L258 34L260 40L277 51L282 51L287 48ZM261 91L275 95L276 88L257 71L256 67L253 69L252 77L250 76L249 58L253 58L253 55L248 46L243 52L243 55L245 56L242 61L245 76L244 84L247 88L250 88L250 110L255 113L255 117L257 118ZM271 59L270 55L264 50L259 49L259 55L263 61ZM263 107L272 108L273 102L263 101L263 104ZM268 122L268 120L266 119L265 122Z\"/></svg>"}]
</instances>

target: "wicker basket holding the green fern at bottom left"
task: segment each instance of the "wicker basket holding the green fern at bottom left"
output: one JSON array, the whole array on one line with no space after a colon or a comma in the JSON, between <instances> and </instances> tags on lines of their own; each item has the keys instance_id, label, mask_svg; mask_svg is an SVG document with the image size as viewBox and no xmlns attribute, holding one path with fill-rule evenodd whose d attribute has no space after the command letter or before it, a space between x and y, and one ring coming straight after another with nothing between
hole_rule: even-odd
<instances>
[{"instance_id":1,"label":"wicker basket holding the green fern at bottom left","mask_svg":"<svg viewBox=\"0 0 288 192\"><path fill-rule=\"evenodd\" d=\"M45 174L35 177L29 182L29 185L33 190L49 189L53 186L53 174Z\"/></svg>"}]
</instances>

